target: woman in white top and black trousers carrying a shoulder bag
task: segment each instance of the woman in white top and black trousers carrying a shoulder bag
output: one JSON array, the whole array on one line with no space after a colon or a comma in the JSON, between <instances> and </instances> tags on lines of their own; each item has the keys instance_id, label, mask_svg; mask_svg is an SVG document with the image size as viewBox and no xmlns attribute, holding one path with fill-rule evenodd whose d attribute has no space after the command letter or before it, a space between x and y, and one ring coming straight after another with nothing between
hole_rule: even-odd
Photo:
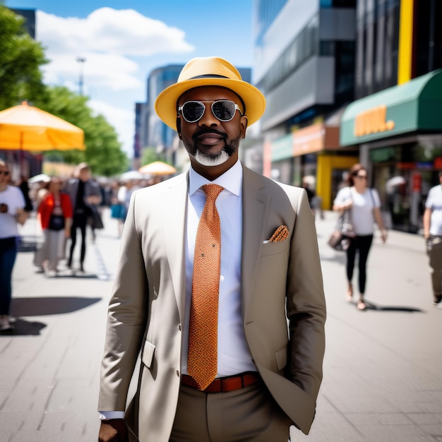
<instances>
[{"instance_id":1,"label":"woman in white top and black trousers carrying a shoulder bag","mask_svg":"<svg viewBox=\"0 0 442 442\"><path fill-rule=\"evenodd\" d=\"M366 261L369 256L371 242L373 241L374 222L377 223L381 229L382 241L387 239L387 232L383 228L381 217L381 201L378 192L375 189L370 189L367 186L367 172L362 165L354 165L350 169L350 176L348 178L349 185L343 187L333 201L333 210L350 210L350 220L352 221L354 233L356 237L350 242L350 247L347 249L347 280L348 291L347 301L351 302L353 297L353 270L354 259L356 252L359 252L358 267L359 267L359 301L357 308L365 310L366 304L364 301L365 286L366 286Z\"/></svg>"}]
</instances>

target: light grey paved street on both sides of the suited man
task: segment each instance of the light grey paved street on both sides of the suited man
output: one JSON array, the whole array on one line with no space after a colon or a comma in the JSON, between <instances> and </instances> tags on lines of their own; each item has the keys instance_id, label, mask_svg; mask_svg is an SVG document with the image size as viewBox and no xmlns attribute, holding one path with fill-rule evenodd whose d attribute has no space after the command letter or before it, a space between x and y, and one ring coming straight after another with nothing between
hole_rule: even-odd
<instances>
[{"instance_id":1,"label":"light grey paved street on both sides of the suited man","mask_svg":"<svg viewBox=\"0 0 442 442\"><path fill-rule=\"evenodd\" d=\"M345 301L344 254L326 245L335 220L330 212L316 220L328 304L324 381L310 435L293 431L292 441L442 441L442 309L430 304L424 241L390 231L381 244L376 236L369 309L361 312ZM97 440L100 358L119 251L108 210L104 225L95 244L88 232L86 273L55 278L35 273L26 251L40 240L35 218L22 229L16 330L0 336L1 442Z\"/></svg>"}]
</instances>

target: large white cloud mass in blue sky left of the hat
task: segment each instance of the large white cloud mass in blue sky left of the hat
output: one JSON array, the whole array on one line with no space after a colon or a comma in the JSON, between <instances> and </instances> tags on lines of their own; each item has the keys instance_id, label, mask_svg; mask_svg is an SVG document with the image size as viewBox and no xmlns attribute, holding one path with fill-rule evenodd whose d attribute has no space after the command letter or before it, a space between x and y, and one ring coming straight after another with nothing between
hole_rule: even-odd
<instances>
[{"instance_id":1,"label":"large white cloud mass in blue sky left of the hat","mask_svg":"<svg viewBox=\"0 0 442 442\"><path fill-rule=\"evenodd\" d=\"M133 96L143 100L148 76L148 72L141 72L137 57L194 50L182 30L133 9L100 8L86 18L62 18L37 11L36 28L37 40L50 60L43 66L45 83L78 92L83 73L85 95L93 91L100 97L99 101L90 100L90 107L114 126L128 153L135 126ZM77 57L84 58L85 63L79 63ZM121 94L118 99L112 96L122 90L132 92L127 100L121 100Z\"/></svg>"}]
</instances>

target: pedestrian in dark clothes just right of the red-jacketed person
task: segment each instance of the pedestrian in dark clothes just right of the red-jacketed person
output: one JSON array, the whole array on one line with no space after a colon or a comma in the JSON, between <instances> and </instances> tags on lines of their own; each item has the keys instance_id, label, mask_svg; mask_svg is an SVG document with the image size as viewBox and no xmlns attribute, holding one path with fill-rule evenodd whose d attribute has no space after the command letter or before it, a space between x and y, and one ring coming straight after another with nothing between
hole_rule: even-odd
<instances>
[{"instance_id":1,"label":"pedestrian in dark clothes just right of the red-jacketed person","mask_svg":"<svg viewBox=\"0 0 442 442\"><path fill-rule=\"evenodd\" d=\"M92 216L92 206L97 207L101 202L100 186L92 181L90 168L82 162L76 167L75 177L68 180L66 193L71 197L73 205L73 220L71 225L71 246L69 248L68 268L72 269L73 252L77 243L77 230L81 233L80 271L84 272L83 262L86 256L86 226Z\"/></svg>"}]
</instances>

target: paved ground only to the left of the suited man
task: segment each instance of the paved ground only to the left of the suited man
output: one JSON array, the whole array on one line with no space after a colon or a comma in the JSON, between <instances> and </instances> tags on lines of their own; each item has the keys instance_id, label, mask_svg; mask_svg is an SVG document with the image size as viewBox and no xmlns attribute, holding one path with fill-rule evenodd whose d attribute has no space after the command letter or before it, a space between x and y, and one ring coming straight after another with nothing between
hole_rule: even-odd
<instances>
[{"instance_id":1,"label":"paved ground only to the left of the suited man","mask_svg":"<svg viewBox=\"0 0 442 442\"><path fill-rule=\"evenodd\" d=\"M97 389L112 274L117 264L117 222L92 244L88 230L85 273L36 273L34 253L23 251L13 272L13 335L0 336L0 440L96 441ZM41 232L35 218L21 229L24 250ZM78 267L77 242L74 267ZM76 259L77 258L77 259Z\"/></svg>"}]
</instances>

